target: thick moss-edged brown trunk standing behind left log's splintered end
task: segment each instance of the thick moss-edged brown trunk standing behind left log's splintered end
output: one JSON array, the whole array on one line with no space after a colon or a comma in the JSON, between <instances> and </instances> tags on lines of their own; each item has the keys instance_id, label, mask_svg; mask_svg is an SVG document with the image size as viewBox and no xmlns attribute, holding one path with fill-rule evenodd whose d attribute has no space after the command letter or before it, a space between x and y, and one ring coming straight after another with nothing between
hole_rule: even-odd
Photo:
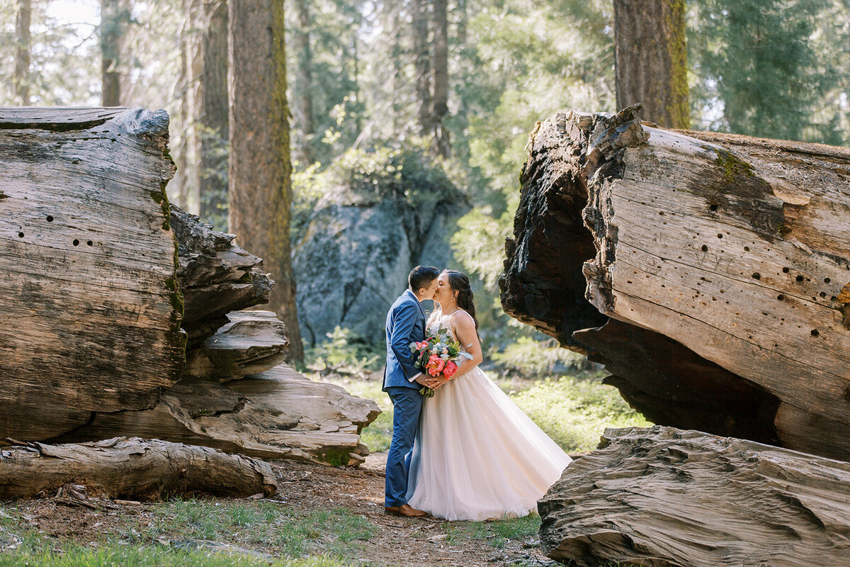
<instances>
[{"instance_id":1,"label":"thick moss-edged brown trunk standing behind left log's splintered end","mask_svg":"<svg viewBox=\"0 0 850 567\"><path fill-rule=\"evenodd\" d=\"M289 241L292 162L282 0L229 4L229 229L263 258L275 281L269 305L303 360Z\"/></svg>"}]
</instances>

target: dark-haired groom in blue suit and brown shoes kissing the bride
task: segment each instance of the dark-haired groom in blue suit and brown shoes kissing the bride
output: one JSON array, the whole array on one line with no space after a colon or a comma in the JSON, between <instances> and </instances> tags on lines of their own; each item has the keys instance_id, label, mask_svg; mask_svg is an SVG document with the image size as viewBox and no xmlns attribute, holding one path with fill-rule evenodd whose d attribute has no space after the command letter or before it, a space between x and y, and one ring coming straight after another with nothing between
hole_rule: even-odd
<instances>
[{"instance_id":1,"label":"dark-haired groom in blue suit and brown shoes kissing the bride","mask_svg":"<svg viewBox=\"0 0 850 567\"><path fill-rule=\"evenodd\" d=\"M419 413L422 411L422 386L436 385L433 377L422 374L413 365L410 344L425 338L425 312L421 303L433 299L437 291L439 269L416 266L407 276L408 288L393 303L387 314L387 368L383 371L383 391L393 402L393 442L387 455L386 513L413 518L424 516L405 500L407 473Z\"/></svg>"}]
</instances>

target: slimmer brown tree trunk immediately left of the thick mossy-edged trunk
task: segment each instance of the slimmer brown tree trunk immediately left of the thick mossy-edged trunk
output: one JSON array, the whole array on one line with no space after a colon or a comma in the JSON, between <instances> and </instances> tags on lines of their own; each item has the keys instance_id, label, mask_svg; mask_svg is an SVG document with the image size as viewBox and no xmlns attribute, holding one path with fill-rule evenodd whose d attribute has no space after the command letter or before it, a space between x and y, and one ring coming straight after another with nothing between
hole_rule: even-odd
<instances>
[{"instance_id":1,"label":"slimmer brown tree trunk immediately left of the thick mossy-edged trunk","mask_svg":"<svg viewBox=\"0 0 850 567\"><path fill-rule=\"evenodd\" d=\"M195 117L201 164L200 215L219 230L228 230L227 2L206 0L203 11L200 108Z\"/></svg>"}]
</instances>

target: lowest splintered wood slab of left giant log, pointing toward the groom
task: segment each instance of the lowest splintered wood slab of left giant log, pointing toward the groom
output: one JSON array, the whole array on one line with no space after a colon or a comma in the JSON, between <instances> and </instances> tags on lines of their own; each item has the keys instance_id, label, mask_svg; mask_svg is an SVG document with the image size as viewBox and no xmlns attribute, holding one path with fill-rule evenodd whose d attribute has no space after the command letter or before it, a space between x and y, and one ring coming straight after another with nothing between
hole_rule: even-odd
<instances>
[{"instance_id":1,"label":"lowest splintered wood slab of left giant log, pointing toward the groom","mask_svg":"<svg viewBox=\"0 0 850 567\"><path fill-rule=\"evenodd\" d=\"M354 465L369 454L360 431L379 413L373 400L279 365L224 384L186 377L150 410L98 413L59 440L133 435L260 458Z\"/></svg>"}]
</instances>

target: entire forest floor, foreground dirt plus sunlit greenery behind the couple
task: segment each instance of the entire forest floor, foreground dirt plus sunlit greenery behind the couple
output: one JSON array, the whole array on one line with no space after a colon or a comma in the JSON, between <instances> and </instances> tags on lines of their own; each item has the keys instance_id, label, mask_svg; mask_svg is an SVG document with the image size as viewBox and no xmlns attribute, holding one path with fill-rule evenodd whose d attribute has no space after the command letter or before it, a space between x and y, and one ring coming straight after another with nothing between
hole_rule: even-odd
<instances>
[{"instance_id":1,"label":"entire forest floor, foreground dirt plus sunlit greenery behind the couple","mask_svg":"<svg viewBox=\"0 0 850 567\"><path fill-rule=\"evenodd\" d=\"M383 463L393 408L380 377L311 377L381 407L361 436L374 452L360 468L273 461L277 494L257 500L0 502L0 567L555 565L541 553L537 516L446 522L386 515ZM592 450L605 427L646 423L592 373L497 383L571 455Z\"/></svg>"}]
</instances>

